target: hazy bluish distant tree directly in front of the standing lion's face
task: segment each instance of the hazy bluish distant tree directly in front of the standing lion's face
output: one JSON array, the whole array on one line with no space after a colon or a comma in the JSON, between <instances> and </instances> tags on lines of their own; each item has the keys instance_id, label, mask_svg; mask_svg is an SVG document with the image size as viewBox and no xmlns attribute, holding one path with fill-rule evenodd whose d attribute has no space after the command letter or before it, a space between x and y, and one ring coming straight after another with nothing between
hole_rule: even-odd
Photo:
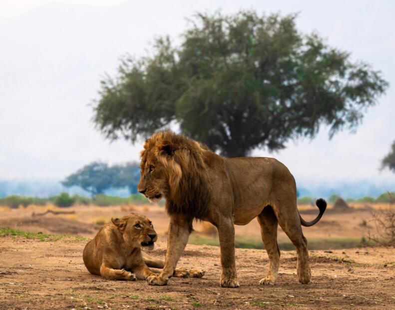
<instances>
[{"instance_id":1,"label":"hazy bluish distant tree directly in front of the standing lion's face","mask_svg":"<svg viewBox=\"0 0 395 310\"><path fill-rule=\"evenodd\" d=\"M127 187L131 194L137 193L137 184L140 180L140 165L137 162L114 165L115 169L112 187Z\"/></svg>"}]
</instances>

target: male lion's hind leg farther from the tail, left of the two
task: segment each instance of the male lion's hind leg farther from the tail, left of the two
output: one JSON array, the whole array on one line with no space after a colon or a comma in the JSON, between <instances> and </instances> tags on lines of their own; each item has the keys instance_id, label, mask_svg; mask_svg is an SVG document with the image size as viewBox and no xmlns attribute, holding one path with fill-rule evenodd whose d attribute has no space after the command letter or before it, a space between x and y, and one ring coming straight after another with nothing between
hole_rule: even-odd
<instances>
[{"instance_id":1,"label":"male lion's hind leg farther from the tail, left of the two","mask_svg":"<svg viewBox=\"0 0 395 310\"><path fill-rule=\"evenodd\" d=\"M273 208L266 206L258 215L258 222L261 226L262 241L269 256L269 270L259 284L273 285L277 280L280 265L280 250L277 244L277 217Z\"/></svg>"}]
</instances>

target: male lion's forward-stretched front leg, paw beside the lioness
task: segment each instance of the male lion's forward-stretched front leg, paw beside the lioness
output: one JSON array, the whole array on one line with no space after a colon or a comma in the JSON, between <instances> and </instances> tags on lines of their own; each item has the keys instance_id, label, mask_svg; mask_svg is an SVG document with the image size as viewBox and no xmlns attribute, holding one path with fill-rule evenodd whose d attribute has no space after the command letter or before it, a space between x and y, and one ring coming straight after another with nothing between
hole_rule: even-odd
<instances>
[{"instance_id":1,"label":"male lion's forward-stretched front leg, paw beside the lioness","mask_svg":"<svg viewBox=\"0 0 395 310\"><path fill-rule=\"evenodd\" d=\"M177 262L188 242L190 227L191 223L182 218L182 216L172 215L170 217L165 265L159 275L151 275L147 278L148 284L167 284L167 281L173 275Z\"/></svg>"}]
</instances>

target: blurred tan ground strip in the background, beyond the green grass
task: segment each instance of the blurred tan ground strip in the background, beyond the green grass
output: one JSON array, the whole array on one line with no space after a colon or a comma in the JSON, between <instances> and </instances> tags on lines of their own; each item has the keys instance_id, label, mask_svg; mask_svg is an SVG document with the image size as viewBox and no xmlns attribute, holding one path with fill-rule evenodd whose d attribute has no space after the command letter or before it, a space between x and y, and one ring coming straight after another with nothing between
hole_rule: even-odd
<instances>
[{"instance_id":1,"label":"blurred tan ground strip in the background, beyond the green grass","mask_svg":"<svg viewBox=\"0 0 395 310\"><path fill-rule=\"evenodd\" d=\"M43 212L47 209L75 211L75 214L45 216L31 216L33 212ZM318 208L314 206L300 206L301 215L306 220L315 218ZM123 205L123 206L73 206L56 208L54 206L28 206L27 208L10 209L0 207L0 225L28 231L42 231L47 233L69 233L93 237L100 224L110 222L111 217L121 217L128 212L147 215L153 222L159 235L167 231L169 218L163 206L158 205ZM361 223L367 221L370 225L371 210L355 208L346 212L329 209L322 219L312 227L304 227L303 233L309 238L361 238L365 232ZM59 220L59 218L61 220ZM371 227L374 230L374 227ZM202 229L200 222L194 223L194 229ZM257 220L252 220L244 226L235 226L236 235L247 239L260 239L260 226ZM278 230L279 242L289 240L282 229Z\"/></svg>"}]
</instances>

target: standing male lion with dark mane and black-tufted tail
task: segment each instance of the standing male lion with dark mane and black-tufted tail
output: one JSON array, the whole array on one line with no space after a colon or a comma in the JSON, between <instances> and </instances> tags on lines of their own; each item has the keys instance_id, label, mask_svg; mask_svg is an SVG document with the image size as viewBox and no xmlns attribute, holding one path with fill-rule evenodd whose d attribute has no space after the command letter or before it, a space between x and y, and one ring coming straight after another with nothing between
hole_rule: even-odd
<instances>
[{"instance_id":1,"label":"standing male lion with dark mane and black-tufted tail","mask_svg":"<svg viewBox=\"0 0 395 310\"><path fill-rule=\"evenodd\" d=\"M234 224L245 225L254 217L269 256L269 270L260 284L274 284L279 269L280 224L298 252L299 281L309 283L307 240L301 224L314 225L326 209L318 199L319 215L306 222L296 205L296 185L288 168L274 158L225 158L207 146L171 131L155 133L141 152L138 190L150 200L166 198L170 215L165 265L159 275L150 275L151 285L165 285L192 230L192 220L211 222L218 229L222 274L220 285L240 286L235 265Z\"/></svg>"}]
</instances>

